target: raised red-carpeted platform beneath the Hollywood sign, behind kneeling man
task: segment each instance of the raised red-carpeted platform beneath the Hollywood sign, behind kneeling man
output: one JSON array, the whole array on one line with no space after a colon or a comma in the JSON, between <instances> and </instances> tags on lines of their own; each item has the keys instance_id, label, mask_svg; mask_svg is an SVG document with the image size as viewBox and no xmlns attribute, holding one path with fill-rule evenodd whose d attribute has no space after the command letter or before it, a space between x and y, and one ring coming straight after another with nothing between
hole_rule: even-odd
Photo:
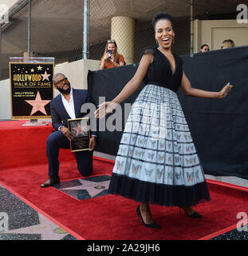
<instances>
[{"instance_id":1,"label":"raised red-carpeted platform beneath the Hollywood sign, behind kneeling man","mask_svg":"<svg viewBox=\"0 0 248 256\"><path fill-rule=\"evenodd\" d=\"M22 126L26 121L0 122L0 170L44 164L49 126ZM61 150L63 161L73 160L73 154Z\"/></svg>"}]
</instances>

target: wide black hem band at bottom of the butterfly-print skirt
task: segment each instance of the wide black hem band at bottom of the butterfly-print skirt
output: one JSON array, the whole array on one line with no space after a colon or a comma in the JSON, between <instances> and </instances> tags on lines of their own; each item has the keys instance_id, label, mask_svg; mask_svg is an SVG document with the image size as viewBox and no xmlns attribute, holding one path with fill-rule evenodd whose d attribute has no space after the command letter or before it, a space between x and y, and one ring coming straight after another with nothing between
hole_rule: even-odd
<instances>
[{"instance_id":1,"label":"wide black hem band at bottom of the butterfly-print skirt","mask_svg":"<svg viewBox=\"0 0 248 256\"><path fill-rule=\"evenodd\" d=\"M196 206L211 201L206 181L194 186L175 186L144 182L116 173L112 173L108 193L159 206Z\"/></svg>"}]
</instances>

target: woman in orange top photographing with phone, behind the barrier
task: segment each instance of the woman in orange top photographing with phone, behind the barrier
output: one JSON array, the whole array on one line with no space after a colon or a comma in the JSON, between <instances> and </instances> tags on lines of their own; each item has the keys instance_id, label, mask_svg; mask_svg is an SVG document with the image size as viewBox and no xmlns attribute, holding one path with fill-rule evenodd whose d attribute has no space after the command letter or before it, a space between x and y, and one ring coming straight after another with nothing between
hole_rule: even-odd
<instances>
[{"instance_id":1,"label":"woman in orange top photographing with phone, behind the barrier","mask_svg":"<svg viewBox=\"0 0 248 256\"><path fill-rule=\"evenodd\" d=\"M108 40L105 46L104 56L100 59L100 70L124 65L124 57L123 55L118 54L115 40Z\"/></svg>"}]
</instances>

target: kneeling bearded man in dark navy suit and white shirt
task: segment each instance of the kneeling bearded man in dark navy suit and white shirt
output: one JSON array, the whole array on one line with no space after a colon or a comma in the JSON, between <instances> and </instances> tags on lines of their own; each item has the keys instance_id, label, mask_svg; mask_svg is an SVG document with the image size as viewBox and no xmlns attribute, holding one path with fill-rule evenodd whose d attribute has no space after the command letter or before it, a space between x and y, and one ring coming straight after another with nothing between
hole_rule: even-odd
<instances>
[{"instance_id":1,"label":"kneeling bearded man in dark navy suit and white shirt","mask_svg":"<svg viewBox=\"0 0 248 256\"><path fill-rule=\"evenodd\" d=\"M53 77L54 88L60 91L56 98L50 102L53 128L56 130L49 135L46 142L46 155L49 160L49 179L41 184L41 187L53 186L60 182L58 176L58 154L60 148L69 149L69 140L73 134L68 128L68 119L82 118L87 113L81 113L81 106L85 103L93 103L93 98L88 90L75 90L71 88L69 80L64 74L58 73ZM92 118L91 118L92 119ZM93 122L94 120L91 120ZM75 152L77 169L82 176L89 176L93 171L93 150L96 146L96 130L91 130L89 141L90 150Z\"/></svg>"}]
</instances>

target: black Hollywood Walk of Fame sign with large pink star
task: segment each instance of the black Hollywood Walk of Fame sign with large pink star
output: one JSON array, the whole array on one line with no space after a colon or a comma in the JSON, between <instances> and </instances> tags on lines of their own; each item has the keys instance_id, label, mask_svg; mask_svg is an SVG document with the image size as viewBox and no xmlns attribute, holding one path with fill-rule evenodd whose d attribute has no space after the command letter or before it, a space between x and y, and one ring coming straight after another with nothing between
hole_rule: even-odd
<instances>
[{"instance_id":1,"label":"black Hollywood Walk of Fame sign with large pink star","mask_svg":"<svg viewBox=\"0 0 248 256\"><path fill-rule=\"evenodd\" d=\"M51 118L52 62L10 62L12 119Z\"/></svg>"}]
</instances>

